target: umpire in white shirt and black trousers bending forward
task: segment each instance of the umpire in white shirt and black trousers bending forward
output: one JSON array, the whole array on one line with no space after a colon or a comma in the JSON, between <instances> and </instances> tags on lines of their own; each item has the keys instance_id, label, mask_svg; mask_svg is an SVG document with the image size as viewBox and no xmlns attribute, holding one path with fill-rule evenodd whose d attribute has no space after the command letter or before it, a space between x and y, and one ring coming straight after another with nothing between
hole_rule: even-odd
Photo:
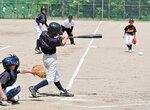
<instances>
[{"instance_id":1,"label":"umpire in white shirt and black trousers bending forward","mask_svg":"<svg viewBox=\"0 0 150 110\"><path fill-rule=\"evenodd\" d=\"M63 31L63 33L65 31L67 32L71 45L75 45L74 38L73 38L73 32L72 32L73 28L74 28L74 20L73 20L73 17L71 15L69 15L68 19L66 19L64 21L64 23L62 24L62 31Z\"/></svg>"}]
</instances>

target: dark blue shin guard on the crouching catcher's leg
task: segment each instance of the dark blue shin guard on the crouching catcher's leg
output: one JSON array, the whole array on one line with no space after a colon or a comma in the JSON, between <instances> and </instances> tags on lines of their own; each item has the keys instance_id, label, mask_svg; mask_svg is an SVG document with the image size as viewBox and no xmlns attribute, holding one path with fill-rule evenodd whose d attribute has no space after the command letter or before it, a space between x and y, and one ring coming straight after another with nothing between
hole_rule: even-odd
<instances>
[{"instance_id":1,"label":"dark blue shin guard on the crouching catcher's leg","mask_svg":"<svg viewBox=\"0 0 150 110\"><path fill-rule=\"evenodd\" d=\"M6 93L7 99L8 99L8 100L11 100L11 99L12 99L14 96L16 96L20 91L21 91L21 87L20 87L20 86L14 87L13 89L9 90L9 91Z\"/></svg>"}]
</instances>

